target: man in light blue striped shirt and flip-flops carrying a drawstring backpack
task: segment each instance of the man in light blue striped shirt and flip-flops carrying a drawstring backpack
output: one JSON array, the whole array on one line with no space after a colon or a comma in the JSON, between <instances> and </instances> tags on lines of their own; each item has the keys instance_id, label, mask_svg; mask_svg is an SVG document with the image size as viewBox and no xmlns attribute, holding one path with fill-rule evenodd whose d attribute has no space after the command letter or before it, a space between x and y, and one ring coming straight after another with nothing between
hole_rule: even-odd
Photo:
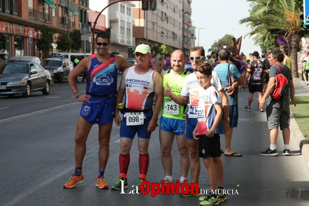
<instances>
[{"instance_id":1,"label":"man in light blue striped shirt and flip-flops carrying a drawstring backpack","mask_svg":"<svg viewBox=\"0 0 309 206\"><path fill-rule=\"evenodd\" d=\"M231 149L233 127L238 123L238 85L245 84L244 78L233 64L229 64L231 53L228 49L221 49L218 53L218 66L214 68L221 81L229 101L230 130L225 133L225 156L241 157L242 155Z\"/></svg>"}]
</instances>

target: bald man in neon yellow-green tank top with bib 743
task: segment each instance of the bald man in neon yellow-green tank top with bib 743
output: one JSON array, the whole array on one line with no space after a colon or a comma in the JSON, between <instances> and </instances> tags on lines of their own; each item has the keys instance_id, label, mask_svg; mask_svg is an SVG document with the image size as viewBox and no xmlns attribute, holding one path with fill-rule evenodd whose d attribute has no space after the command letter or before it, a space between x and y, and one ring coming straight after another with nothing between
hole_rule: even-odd
<instances>
[{"instance_id":1,"label":"bald man in neon yellow-green tank top with bib 743","mask_svg":"<svg viewBox=\"0 0 309 206\"><path fill-rule=\"evenodd\" d=\"M189 71L184 70L184 64L184 52L181 50L174 51L171 55L172 69L161 73L163 79L163 89L169 88L171 89L171 92L180 96L184 79L188 74L190 74ZM184 110L185 106L176 104L171 97L168 97L166 94L164 95L159 138L161 144L161 160L165 173L165 182L173 182L173 160L171 149L175 135L180 152L180 182L183 182L188 176L190 157L186 139L186 120L183 118Z\"/></svg>"}]
</instances>

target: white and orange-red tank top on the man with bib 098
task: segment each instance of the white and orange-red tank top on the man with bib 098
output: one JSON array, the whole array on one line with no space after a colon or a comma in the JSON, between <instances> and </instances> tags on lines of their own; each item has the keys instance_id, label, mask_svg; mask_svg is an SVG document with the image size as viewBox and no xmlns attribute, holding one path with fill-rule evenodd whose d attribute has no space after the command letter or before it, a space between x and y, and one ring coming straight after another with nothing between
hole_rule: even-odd
<instances>
[{"instance_id":1,"label":"white and orange-red tank top on the man with bib 098","mask_svg":"<svg viewBox=\"0 0 309 206\"><path fill-rule=\"evenodd\" d=\"M153 106L155 90L152 81L153 70L139 75L130 67L125 76L125 108L134 110L151 109Z\"/></svg>"}]
</instances>

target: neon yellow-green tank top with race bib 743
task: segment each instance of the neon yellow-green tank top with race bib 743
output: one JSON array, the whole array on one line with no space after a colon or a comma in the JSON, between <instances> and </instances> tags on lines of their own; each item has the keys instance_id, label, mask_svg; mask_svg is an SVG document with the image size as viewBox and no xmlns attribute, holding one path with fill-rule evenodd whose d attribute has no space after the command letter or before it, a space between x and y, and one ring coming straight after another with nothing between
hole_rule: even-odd
<instances>
[{"instance_id":1,"label":"neon yellow-green tank top with race bib 743","mask_svg":"<svg viewBox=\"0 0 309 206\"><path fill-rule=\"evenodd\" d=\"M188 75L188 71L184 70L183 73L178 75L177 77L171 75L171 70L168 70L165 75L163 76L163 89L166 89L166 83L168 83L169 87L171 88L171 92L180 96L182 91L182 86L184 83L185 77ZM164 97L163 98L163 111L162 116L166 118L172 119L182 119L184 120L183 113L184 113L185 106L181 106L176 104L171 97Z\"/></svg>"}]
</instances>

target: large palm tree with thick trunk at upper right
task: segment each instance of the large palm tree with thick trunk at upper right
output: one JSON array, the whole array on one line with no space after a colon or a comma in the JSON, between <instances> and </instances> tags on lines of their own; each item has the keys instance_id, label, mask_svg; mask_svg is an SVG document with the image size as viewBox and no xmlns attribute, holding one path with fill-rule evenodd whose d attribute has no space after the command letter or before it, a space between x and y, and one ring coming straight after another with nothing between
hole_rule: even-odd
<instances>
[{"instance_id":1,"label":"large palm tree with thick trunk at upper right","mask_svg":"<svg viewBox=\"0 0 309 206\"><path fill-rule=\"evenodd\" d=\"M293 78L298 78L297 52L300 50L302 37L308 35L299 27L300 8L294 0L248 0L253 2L251 15L241 19L253 28L249 35L257 34L256 42L267 41L269 35L285 33L292 63Z\"/></svg>"}]
</instances>

